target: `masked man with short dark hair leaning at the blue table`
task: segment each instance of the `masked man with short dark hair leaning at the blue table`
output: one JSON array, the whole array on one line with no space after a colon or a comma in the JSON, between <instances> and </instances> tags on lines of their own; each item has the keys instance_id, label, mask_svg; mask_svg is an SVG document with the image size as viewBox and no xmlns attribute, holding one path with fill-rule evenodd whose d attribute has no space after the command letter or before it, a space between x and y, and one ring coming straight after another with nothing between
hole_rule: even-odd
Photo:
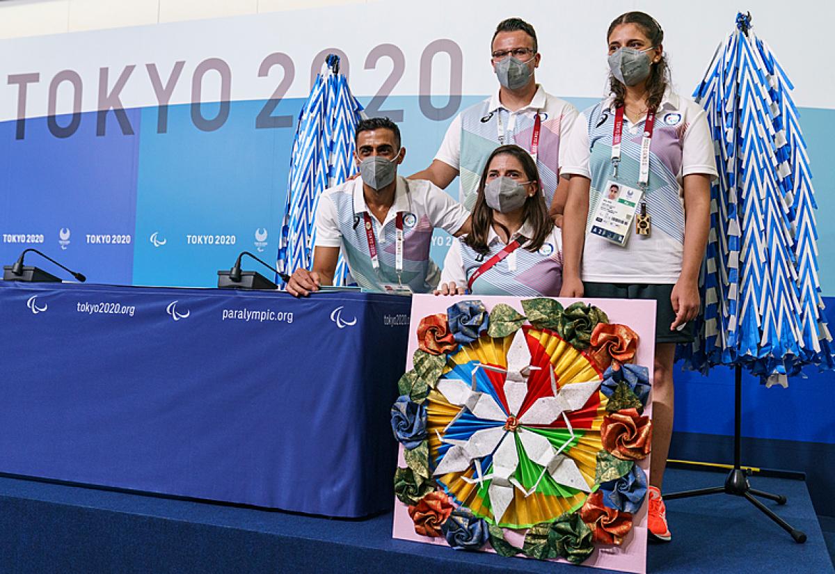
<instances>
[{"instance_id":1,"label":"masked man with short dark hair leaning at the blue table","mask_svg":"<svg viewBox=\"0 0 835 574\"><path fill-rule=\"evenodd\" d=\"M362 120L356 143L361 177L321 194L313 270L296 269L287 292L308 295L333 284L342 249L363 289L429 293L440 279L438 266L429 259L433 229L468 233L469 214L434 184L397 175L406 149L392 120Z\"/></svg>"}]
</instances>

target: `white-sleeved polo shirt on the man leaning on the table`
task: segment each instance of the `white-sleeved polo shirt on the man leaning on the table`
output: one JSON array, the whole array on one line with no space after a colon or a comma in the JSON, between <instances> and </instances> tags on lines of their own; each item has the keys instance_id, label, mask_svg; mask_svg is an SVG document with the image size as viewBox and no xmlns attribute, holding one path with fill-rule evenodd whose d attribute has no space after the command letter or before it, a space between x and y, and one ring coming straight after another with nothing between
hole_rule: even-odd
<instances>
[{"instance_id":1,"label":"white-sleeved polo shirt on the man leaning on the table","mask_svg":"<svg viewBox=\"0 0 835 574\"><path fill-rule=\"evenodd\" d=\"M403 269L400 281L415 293L438 285L438 266L429 259L433 229L449 234L461 229L466 209L431 182L397 176L394 203L382 223L371 213L362 193L362 178L326 189L316 208L316 247L340 247L352 278L363 289L382 291L397 284L397 213L403 220ZM372 222L380 267L374 269L365 217Z\"/></svg>"}]
</instances>

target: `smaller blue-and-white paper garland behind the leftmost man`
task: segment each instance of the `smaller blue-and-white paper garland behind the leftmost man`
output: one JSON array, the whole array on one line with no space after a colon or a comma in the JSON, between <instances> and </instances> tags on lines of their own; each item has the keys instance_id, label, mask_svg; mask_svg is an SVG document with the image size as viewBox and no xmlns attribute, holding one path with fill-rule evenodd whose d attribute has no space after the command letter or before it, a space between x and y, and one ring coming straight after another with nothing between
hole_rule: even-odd
<instances>
[{"instance_id":1,"label":"smaller blue-and-white paper garland behind the leftmost man","mask_svg":"<svg viewBox=\"0 0 835 574\"><path fill-rule=\"evenodd\" d=\"M357 172L353 161L354 135L362 119L362 105L352 96L339 73L339 57L326 58L328 72L318 74L299 113L290 164L284 221L281 225L277 268L292 274L311 269L316 242L316 206L321 192L342 184ZM337 263L334 284L345 284L347 264Z\"/></svg>"}]
</instances>

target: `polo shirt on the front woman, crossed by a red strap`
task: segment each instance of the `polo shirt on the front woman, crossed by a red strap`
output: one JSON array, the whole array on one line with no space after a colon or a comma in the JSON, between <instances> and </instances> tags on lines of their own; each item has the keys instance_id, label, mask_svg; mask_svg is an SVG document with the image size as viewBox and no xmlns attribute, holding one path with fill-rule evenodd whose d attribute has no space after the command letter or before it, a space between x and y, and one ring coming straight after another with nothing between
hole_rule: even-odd
<instances>
[{"instance_id":1,"label":"polo shirt on the front woman, crossed by a red strap","mask_svg":"<svg viewBox=\"0 0 835 574\"><path fill-rule=\"evenodd\" d=\"M511 240L520 235L529 238L533 229L525 222ZM488 254L482 255L459 237L453 241L443 262L441 283L454 281L467 287L469 278L485 261L498 254L506 244L493 228L488 234ZM538 251L531 253L520 245L507 257L473 281L472 292L478 295L517 297L556 297L563 284L563 243L559 228L554 227Z\"/></svg>"}]
</instances>

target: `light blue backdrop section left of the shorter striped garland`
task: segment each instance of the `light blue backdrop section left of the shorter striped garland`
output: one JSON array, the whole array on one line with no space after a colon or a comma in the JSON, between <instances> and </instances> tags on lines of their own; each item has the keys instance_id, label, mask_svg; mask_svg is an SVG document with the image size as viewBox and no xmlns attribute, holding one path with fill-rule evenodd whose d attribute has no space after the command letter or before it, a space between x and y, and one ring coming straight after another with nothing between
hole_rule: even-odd
<instances>
[{"instance_id":1,"label":"light blue backdrop section left of the shorter striped garland","mask_svg":"<svg viewBox=\"0 0 835 574\"><path fill-rule=\"evenodd\" d=\"M214 117L216 108L202 113ZM158 108L142 110L134 284L213 286L215 270L242 250L275 262L293 129L256 128L262 108L230 103L225 123L205 132L190 105L171 106L165 133ZM273 115L295 122L300 108L286 99Z\"/></svg>"}]
</instances>

